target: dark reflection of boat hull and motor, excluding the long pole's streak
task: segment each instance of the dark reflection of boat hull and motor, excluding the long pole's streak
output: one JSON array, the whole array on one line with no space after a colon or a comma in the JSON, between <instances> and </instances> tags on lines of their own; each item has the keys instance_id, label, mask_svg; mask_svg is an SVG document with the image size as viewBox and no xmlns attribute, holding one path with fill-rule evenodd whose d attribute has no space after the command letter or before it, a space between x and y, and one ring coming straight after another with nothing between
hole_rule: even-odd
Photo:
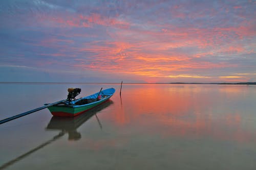
<instances>
[{"instance_id":1,"label":"dark reflection of boat hull and motor, excluding the long pole's streak","mask_svg":"<svg viewBox=\"0 0 256 170\"><path fill-rule=\"evenodd\" d=\"M46 127L46 130L60 130L62 133L69 134L69 140L79 140L81 138L81 134L77 132L77 128L79 128L84 122L89 120L94 115L96 116L99 126L102 129L102 125L96 114L111 104L113 104L113 101L106 101L105 103L102 103L101 105L87 111L86 113L80 114L73 118L53 116L48 126Z\"/></svg>"}]
</instances>

